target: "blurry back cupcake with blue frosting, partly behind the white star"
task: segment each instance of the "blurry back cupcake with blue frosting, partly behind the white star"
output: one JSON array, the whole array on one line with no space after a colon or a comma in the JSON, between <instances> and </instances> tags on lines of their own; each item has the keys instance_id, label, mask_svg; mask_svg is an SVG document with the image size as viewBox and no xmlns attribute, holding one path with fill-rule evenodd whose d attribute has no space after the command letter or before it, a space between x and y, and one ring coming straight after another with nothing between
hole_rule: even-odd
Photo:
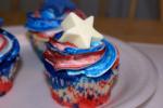
<instances>
[{"instance_id":1,"label":"blurry back cupcake with blue frosting, partly behind the white star","mask_svg":"<svg viewBox=\"0 0 163 108\"><path fill-rule=\"evenodd\" d=\"M68 0L45 0L41 10L27 13L27 36L39 58L46 50L45 43L62 30L61 22L72 11L85 17Z\"/></svg>"}]
</instances>

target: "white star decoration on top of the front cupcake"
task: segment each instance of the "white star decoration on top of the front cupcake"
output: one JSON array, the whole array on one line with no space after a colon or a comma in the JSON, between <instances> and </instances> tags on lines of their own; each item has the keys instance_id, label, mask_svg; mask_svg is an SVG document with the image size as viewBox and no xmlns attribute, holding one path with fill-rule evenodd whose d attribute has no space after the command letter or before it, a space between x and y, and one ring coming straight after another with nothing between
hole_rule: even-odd
<instances>
[{"instance_id":1,"label":"white star decoration on top of the front cupcake","mask_svg":"<svg viewBox=\"0 0 163 108\"><path fill-rule=\"evenodd\" d=\"M82 19L75 13L70 13L62 23L65 31L60 42L70 42L79 49L89 49L91 41L103 39L102 35L93 28L93 16Z\"/></svg>"}]
</instances>

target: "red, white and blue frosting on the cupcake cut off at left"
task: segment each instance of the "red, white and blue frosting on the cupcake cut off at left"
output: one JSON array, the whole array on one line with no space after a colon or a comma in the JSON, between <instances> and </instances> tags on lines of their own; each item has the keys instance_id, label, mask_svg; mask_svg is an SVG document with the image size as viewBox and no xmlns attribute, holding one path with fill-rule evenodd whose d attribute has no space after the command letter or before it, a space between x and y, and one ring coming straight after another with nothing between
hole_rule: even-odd
<instances>
[{"instance_id":1,"label":"red, white and blue frosting on the cupcake cut off at left","mask_svg":"<svg viewBox=\"0 0 163 108\"><path fill-rule=\"evenodd\" d=\"M18 56L20 44L11 33L0 29L0 72Z\"/></svg>"}]
</instances>

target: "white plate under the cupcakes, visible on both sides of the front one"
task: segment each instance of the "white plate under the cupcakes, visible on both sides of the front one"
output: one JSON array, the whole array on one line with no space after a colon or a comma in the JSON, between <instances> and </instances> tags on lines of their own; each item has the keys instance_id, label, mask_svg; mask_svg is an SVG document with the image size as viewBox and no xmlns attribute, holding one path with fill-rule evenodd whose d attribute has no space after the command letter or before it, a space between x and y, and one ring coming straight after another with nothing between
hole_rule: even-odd
<instances>
[{"instance_id":1,"label":"white plate under the cupcakes, visible on both sides of the front one","mask_svg":"<svg viewBox=\"0 0 163 108\"><path fill-rule=\"evenodd\" d=\"M25 41L25 36L18 35L18 40L22 45L23 67L12 91L0 98L0 108L61 108L51 98L42 73L43 66ZM116 39L110 40L120 48L121 69L110 104L104 107L138 107L154 93L158 71L152 62L140 52Z\"/></svg>"}]
</instances>

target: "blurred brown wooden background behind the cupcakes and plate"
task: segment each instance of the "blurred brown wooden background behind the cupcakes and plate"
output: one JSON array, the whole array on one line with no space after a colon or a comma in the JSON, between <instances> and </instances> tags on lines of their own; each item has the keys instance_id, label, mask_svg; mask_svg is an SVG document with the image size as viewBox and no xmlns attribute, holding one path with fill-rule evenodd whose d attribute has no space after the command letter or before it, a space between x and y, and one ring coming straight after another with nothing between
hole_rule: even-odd
<instances>
[{"instance_id":1,"label":"blurred brown wooden background behind the cupcakes and plate","mask_svg":"<svg viewBox=\"0 0 163 108\"><path fill-rule=\"evenodd\" d=\"M125 41L163 43L163 0L74 0L87 15L95 15L101 32ZM42 0L1 0L5 26L23 25L28 11Z\"/></svg>"}]
</instances>

